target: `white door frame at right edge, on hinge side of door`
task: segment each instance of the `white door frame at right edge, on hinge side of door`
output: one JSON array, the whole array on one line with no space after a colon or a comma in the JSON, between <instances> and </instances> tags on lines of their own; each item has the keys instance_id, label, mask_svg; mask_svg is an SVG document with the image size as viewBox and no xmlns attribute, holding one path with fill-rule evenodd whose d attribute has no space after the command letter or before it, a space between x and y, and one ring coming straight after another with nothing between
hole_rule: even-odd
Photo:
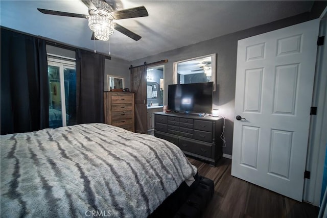
<instances>
[{"instance_id":1,"label":"white door frame at right edge, on hinge side of door","mask_svg":"<svg viewBox=\"0 0 327 218\"><path fill-rule=\"evenodd\" d=\"M318 46L316 75L312 106L317 107L317 115L312 115L307 155L307 170L310 179L305 181L303 200L320 205L321 185L324 171L327 142L327 7L320 21L319 36L325 36L324 45Z\"/></svg>"}]
</instances>

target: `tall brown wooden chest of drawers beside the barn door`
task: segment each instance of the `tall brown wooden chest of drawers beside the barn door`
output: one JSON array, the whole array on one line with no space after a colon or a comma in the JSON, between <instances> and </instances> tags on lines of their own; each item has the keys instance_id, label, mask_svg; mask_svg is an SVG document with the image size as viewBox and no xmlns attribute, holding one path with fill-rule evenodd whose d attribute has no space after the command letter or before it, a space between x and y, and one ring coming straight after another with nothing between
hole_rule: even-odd
<instances>
[{"instance_id":1,"label":"tall brown wooden chest of drawers beside the barn door","mask_svg":"<svg viewBox=\"0 0 327 218\"><path fill-rule=\"evenodd\" d=\"M135 132L134 93L104 92L104 122Z\"/></svg>"}]
</instances>

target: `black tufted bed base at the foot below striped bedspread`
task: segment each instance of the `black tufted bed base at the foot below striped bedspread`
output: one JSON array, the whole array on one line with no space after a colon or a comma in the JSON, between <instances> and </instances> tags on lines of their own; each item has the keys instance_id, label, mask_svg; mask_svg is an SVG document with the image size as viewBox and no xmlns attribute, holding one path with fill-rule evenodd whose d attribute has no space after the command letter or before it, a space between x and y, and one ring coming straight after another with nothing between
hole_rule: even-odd
<instances>
[{"instance_id":1,"label":"black tufted bed base at the foot below striped bedspread","mask_svg":"<svg viewBox=\"0 0 327 218\"><path fill-rule=\"evenodd\" d=\"M198 218L213 198L214 181L198 174L191 186L183 182L148 218Z\"/></svg>"}]
</instances>

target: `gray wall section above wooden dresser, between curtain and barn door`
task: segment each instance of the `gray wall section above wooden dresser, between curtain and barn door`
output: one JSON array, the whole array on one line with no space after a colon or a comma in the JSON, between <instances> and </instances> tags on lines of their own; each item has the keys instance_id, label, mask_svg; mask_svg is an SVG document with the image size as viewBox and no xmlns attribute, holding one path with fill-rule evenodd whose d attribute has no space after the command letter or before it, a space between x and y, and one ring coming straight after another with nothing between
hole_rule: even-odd
<instances>
[{"instance_id":1,"label":"gray wall section above wooden dresser, between curtain and barn door","mask_svg":"<svg viewBox=\"0 0 327 218\"><path fill-rule=\"evenodd\" d=\"M111 57L111 60L105 59L104 63L104 90L108 91L107 75L120 76L125 78L125 87L130 88L130 70L129 62L120 58Z\"/></svg>"}]
</instances>

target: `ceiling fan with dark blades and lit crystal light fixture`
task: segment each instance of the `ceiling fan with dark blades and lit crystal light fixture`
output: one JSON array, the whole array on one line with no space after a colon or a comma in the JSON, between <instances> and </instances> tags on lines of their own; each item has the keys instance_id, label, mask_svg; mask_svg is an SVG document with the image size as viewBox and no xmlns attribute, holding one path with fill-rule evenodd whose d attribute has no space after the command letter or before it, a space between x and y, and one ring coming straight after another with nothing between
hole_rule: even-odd
<instances>
[{"instance_id":1,"label":"ceiling fan with dark blades and lit crystal light fixture","mask_svg":"<svg viewBox=\"0 0 327 218\"><path fill-rule=\"evenodd\" d=\"M38 8L37 10L39 10L43 14L88 19L88 26L93 32L91 37L92 40L99 39L107 41L109 40L110 35L113 34L114 30L123 33L124 35L134 39L135 41L142 38L136 33L133 33L132 31L114 22L114 20L149 16L148 11L144 6L116 10L116 4L114 3L115 1L111 0L82 0L82 2L88 8L88 15L53 11L40 8Z\"/></svg>"}]
</instances>

